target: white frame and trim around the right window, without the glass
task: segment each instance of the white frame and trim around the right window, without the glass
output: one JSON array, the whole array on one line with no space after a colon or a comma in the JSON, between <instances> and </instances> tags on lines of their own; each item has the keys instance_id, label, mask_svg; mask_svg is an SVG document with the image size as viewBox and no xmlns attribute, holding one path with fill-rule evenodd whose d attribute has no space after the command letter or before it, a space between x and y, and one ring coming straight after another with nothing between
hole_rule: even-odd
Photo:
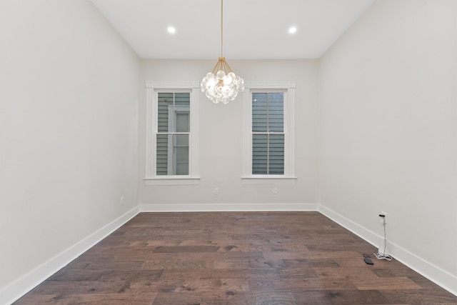
<instances>
[{"instance_id":1,"label":"white frame and trim around the right window, without the glass","mask_svg":"<svg viewBox=\"0 0 457 305\"><path fill-rule=\"evenodd\" d=\"M295 81L250 81L243 91L243 184L294 184L295 175ZM284 174L252 174L252 93L284 92Z\"/></svg>"}]
</instances>

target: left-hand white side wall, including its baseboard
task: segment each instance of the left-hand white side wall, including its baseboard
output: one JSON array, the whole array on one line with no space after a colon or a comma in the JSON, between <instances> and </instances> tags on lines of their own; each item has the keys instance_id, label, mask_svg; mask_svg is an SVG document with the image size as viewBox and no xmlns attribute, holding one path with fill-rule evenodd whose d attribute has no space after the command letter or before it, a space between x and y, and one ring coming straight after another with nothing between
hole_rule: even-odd
<instances>
[{"instance_id":1,"label":"left-hand white side wall, including its baseboard","mask_svg":"<svg viewBox=\"0 0 457 305\"><path fill-rule=\"evenodd\" d=\"M85 0L0 1L0 37L7 304L137 207L139 58Z\"/></svg>"}]
</instances>

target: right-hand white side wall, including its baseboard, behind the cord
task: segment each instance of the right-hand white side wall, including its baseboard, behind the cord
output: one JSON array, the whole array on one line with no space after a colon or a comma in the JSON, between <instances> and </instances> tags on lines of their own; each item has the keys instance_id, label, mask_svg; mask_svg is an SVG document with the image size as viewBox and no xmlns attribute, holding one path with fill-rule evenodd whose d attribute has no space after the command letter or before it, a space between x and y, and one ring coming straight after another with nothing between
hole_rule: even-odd
<instances>
[{"instance_id":1,"label":"right-hand white side wall, including its baseboard, behind the cord","mask_svg":"<svg viewBox=\"0 0 457 305\"><path fill-rule=\"evenodd\" d=\"M323 56L321 204L457 294L457 1L376 1Z\"/></svg>"}]
</instances>

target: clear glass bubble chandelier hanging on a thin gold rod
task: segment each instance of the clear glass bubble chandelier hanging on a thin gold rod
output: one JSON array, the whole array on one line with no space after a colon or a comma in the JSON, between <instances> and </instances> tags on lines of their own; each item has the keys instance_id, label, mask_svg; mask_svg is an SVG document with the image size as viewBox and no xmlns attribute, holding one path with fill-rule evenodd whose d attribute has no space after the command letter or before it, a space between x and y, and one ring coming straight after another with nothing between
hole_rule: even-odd
<instances>
[{"instance_id":1,"label":"clear glass bubble chandelier hanging on a thin gold rod","mask_svg":"<svg viewBox=\"0 0 457 305\"><path fill-rule=\"evenodd\" d=\"M224 0L221 0L221 57L214 66L213 71L206 74L201 80L201 91L205 92L206 97L213 101L214 104L222 102L223 104L233 101L238 92L244 90L244 81L240 76L236 76L233 70L227 64L222 54L224 41Z\"/></svg>"}]
</instances>

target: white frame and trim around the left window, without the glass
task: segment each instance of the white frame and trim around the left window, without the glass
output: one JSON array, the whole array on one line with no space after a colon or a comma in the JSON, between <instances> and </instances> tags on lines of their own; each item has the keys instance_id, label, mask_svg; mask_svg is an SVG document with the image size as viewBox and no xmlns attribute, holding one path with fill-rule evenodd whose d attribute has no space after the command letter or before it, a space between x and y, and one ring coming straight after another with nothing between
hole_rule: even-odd
<instances>
[{"instance_id":1,"label":"white frame and trim around the left window, without the glass","mask_svg":"<svg viewBox=\"0 0 457 305\"><path fill-rule=\"evenodd\" d=\"M144 184L189 185L199 184L199 81L162 82L146 81L146 163ZM189 175L156 174L157 106L159 92L189 92Z\"/></svg>"}]
</instances>

